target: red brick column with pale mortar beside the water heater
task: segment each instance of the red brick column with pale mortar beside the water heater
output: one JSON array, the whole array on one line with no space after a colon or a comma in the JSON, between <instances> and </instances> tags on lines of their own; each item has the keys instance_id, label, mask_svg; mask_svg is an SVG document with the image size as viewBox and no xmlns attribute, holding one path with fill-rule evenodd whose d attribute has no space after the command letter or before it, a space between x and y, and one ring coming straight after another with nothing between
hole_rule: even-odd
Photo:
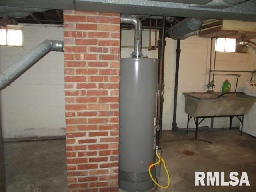
<instances>
[{"instance_id":1,"label":"red brick column with pale mortar beside the water heater","mask_svg":"<svg viewBox=\"0 0 256 192\"><path fill-rule=\"evenodd\" d=\"M64 11L68 192L118 191L120 14Z\"/></svg>"}]
</instances>

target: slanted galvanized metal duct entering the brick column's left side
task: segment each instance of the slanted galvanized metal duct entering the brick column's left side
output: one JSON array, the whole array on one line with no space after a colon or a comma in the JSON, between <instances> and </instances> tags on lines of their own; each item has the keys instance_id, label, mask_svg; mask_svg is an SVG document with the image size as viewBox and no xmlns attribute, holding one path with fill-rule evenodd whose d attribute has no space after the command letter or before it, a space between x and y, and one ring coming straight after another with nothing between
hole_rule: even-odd
<instances>
[{"instance_id":1,"label":"slanted galvanized metal duct entering the brick column's left side","mask_svg":"<svg viewBox=\"0 0 256 192\"><path fill-rule=\"evenodd\" d=\"M21 74L26 72L36 62L50 51L63 51L63 41L45 40L31 50L28 54L16 61L12 66L0 73L0 90L6 88Z\"/></svg>"}]
</instances>

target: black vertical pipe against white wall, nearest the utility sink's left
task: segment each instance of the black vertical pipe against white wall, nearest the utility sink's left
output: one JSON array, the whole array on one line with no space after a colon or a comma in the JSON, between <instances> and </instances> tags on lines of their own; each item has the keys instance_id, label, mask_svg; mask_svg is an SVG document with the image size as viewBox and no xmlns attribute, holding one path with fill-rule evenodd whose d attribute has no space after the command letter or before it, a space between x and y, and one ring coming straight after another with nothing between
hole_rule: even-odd
<instances>
[{"instance_id":1,"label":"black vertical pipe against white wall, nearest the utility sink's left","mask_svg":"<svg viewBox=\"0 0 256 192\"><path fill-rule=\"evenodd\" d=\"M177 95L178 95L178 78L179 78L179 65L180 65L180 39L177 40L176 48L176 68L175 68L175 86L174 86L174 104L173 104L173 121L172 131L177 130L176 116L177 116Z\"/></svg>"}]
</instances>

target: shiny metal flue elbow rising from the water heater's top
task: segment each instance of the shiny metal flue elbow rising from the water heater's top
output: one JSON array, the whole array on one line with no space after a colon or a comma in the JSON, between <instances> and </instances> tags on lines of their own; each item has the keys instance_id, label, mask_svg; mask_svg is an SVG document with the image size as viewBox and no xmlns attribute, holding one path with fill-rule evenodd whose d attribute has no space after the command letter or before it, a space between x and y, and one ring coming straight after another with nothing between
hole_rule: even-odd
<instances>
[{"instance_id":1,"label":"shiny metal flue elbow rising from the water heater's top","mask_svg":"<svg viewBox=\"0 0 256 192\"><path fill-rule=\"evenodd\" d=\"M142 44L142 23L140 18L136 15L121 15L121 23L134 25L134 51L132 52L133 58L142 57L141 44Z\"/></svg>"}]
</instances>

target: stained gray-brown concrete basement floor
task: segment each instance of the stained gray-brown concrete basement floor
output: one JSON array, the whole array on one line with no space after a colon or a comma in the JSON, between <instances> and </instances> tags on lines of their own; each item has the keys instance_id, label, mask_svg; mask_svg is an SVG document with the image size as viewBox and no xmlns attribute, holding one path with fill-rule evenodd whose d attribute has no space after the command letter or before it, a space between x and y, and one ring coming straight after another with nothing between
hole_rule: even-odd
<instances>
[{"instance_id":1,"label":"stained gray-brown concrete basement floor","mask_svg":"<svg viewBox=\"0 0 256 192\"><path fill-rule=\"evenodd\" d=\"M253 192L256 191L256 139L239 135L238 130L165 131L161 139L162 156L170 171L171 187L157 192ZM163 142L173 140L170 142ZM184 150L192 150L188 156ZM7 192L66 192L65 141L5 143ZM163 168L163 167L162 167ZM195 186L195 171L246 171L250 186ZM162 170L159 182L166 183ZM122 190L120 190L121 192Z\"/></svg>"}]
</instances>

